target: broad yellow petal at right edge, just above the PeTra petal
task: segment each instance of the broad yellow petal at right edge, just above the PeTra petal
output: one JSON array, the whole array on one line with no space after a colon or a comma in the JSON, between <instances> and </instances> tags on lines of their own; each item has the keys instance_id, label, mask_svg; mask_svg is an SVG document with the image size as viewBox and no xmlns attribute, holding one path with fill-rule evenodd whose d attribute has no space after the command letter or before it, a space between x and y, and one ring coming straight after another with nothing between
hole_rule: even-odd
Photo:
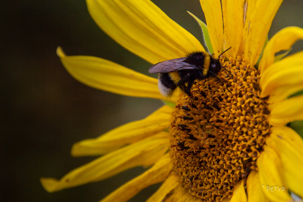
<instances>
[{"instance_id":1,"label":"broad yellow petal at right edge, just above the PeTra petal","mask_svg":"<svg viewBox=\"0 0 303 202\"><path fill-rule=\"evenodd\" d=\"M274 148L281 157L285 179L289 189L303 196L303 140L290 127L272 127L266 144Z\"/></svg>"}]
</instances>

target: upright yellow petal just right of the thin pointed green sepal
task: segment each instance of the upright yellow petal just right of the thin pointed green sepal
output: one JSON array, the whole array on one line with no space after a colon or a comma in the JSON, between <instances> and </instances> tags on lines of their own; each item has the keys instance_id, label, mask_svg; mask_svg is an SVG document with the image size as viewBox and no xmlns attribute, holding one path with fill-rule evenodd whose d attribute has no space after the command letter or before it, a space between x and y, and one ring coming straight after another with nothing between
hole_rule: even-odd
<instances>
[{"instance_id":1,"label":"upright yellow petal just right of the thin pointed green sepal","mask_svg":"<svg viewBox=\"0 0 303 202\"><path fill-rule=\"evenodd\" d=\"M200 0L203 9L209 37L214 53L222 52L223 47L223 21L220 0Z\"/></svg>"}]
</instances>

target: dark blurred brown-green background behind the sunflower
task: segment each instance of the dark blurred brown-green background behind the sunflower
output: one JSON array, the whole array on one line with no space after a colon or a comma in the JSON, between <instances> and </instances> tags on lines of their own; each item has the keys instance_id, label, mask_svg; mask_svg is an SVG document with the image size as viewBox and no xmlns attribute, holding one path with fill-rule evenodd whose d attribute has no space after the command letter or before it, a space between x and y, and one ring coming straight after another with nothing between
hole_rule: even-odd
<instances>
[{"instance_id":1,"label":"dark blurred brown-green background behind the sunflower","mask_svg":"<svg viewBox=\"0 0 303 202\"><path fill-rule=\"evenodd\" d=\"M153 2L202 41L199 26L186 12L205 22L198 0ZM40 177L59 179L94 159L71 157L73 143L145 118L162 103L99 91L65 71L55 53L59 45L67 55L98 56L148 74L150 64L105 35L89 16L85 1L2 1L1 8L0 201L97 202L144 171L134 168L52 194L42 188ZM285 0L269 38L287 26L303 27L302 8L302 0ZM302 47L297 42L292 52ZM145 201L158 186L131 201Z\"/></svg>"}]
</instances>

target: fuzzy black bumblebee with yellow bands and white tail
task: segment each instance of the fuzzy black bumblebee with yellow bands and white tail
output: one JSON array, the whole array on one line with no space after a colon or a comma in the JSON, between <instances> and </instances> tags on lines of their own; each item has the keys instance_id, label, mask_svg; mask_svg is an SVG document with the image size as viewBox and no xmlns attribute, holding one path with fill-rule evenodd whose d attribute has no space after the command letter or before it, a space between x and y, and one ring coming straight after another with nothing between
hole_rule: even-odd
<instances>
[{"instance_id":1,"label":"fuzzy black bumblebee with yellow bands and white tail","mask_svg":"<svg viewBox=\"0 0 303 202\"><path fill-rule=\"evenodd\" d=\"M230 48L222 52L218 58ZM190 89L196 79L216 77L221 68L224 67L220 64L219 59L215 59L213 55L206 52L193 52L184 58L158 62L152 65L148 72L160 73L158 88L162 95L169 97L177 88L180 88L190 97ZM228 71L226 68L224 69ZM228 71L228 73L230 72Z\"/></svg>"}]
</instances>

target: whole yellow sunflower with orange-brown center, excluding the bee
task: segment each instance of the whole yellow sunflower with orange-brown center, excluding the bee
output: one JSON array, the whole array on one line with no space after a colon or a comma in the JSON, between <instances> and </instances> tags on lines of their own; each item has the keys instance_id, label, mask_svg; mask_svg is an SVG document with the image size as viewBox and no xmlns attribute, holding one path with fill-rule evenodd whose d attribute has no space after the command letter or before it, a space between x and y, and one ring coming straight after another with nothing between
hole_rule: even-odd
<instances>
[{"instance_id":1,"label":"whole yellow sunflower with orange-brown center, excluding the bee","mask_svg":"<svg viewBox=\"0 0 303 202\"><path fill-rule=\"evenodd\" d=\"M205 51L188 31L150 0L87 0L100 28L124 48L155 64ZM147 118L74 144L74 156L102 155L61 180L42 178L54 192L150 167L105 197L127 201L163 182L151 201L290 201L303 197L303 141L291 128L303 120L303 52L286 56L303 29L267 34L282 0L200 0L200 24L210 54L219 55L216 78L196 81L192 96L163 97L157 80L114 62L66 56L79 81L117 94L156 98L164 105ZM222 11L222 12L221 12ZM261 15L260 15L261 14ZM192 14L191 14L192 15ZM222 19L223 16L223 19ZM224 22L224 26L223 26ZM276 55L279 51L286 53Z\"/></svg>"}]
</instances>

